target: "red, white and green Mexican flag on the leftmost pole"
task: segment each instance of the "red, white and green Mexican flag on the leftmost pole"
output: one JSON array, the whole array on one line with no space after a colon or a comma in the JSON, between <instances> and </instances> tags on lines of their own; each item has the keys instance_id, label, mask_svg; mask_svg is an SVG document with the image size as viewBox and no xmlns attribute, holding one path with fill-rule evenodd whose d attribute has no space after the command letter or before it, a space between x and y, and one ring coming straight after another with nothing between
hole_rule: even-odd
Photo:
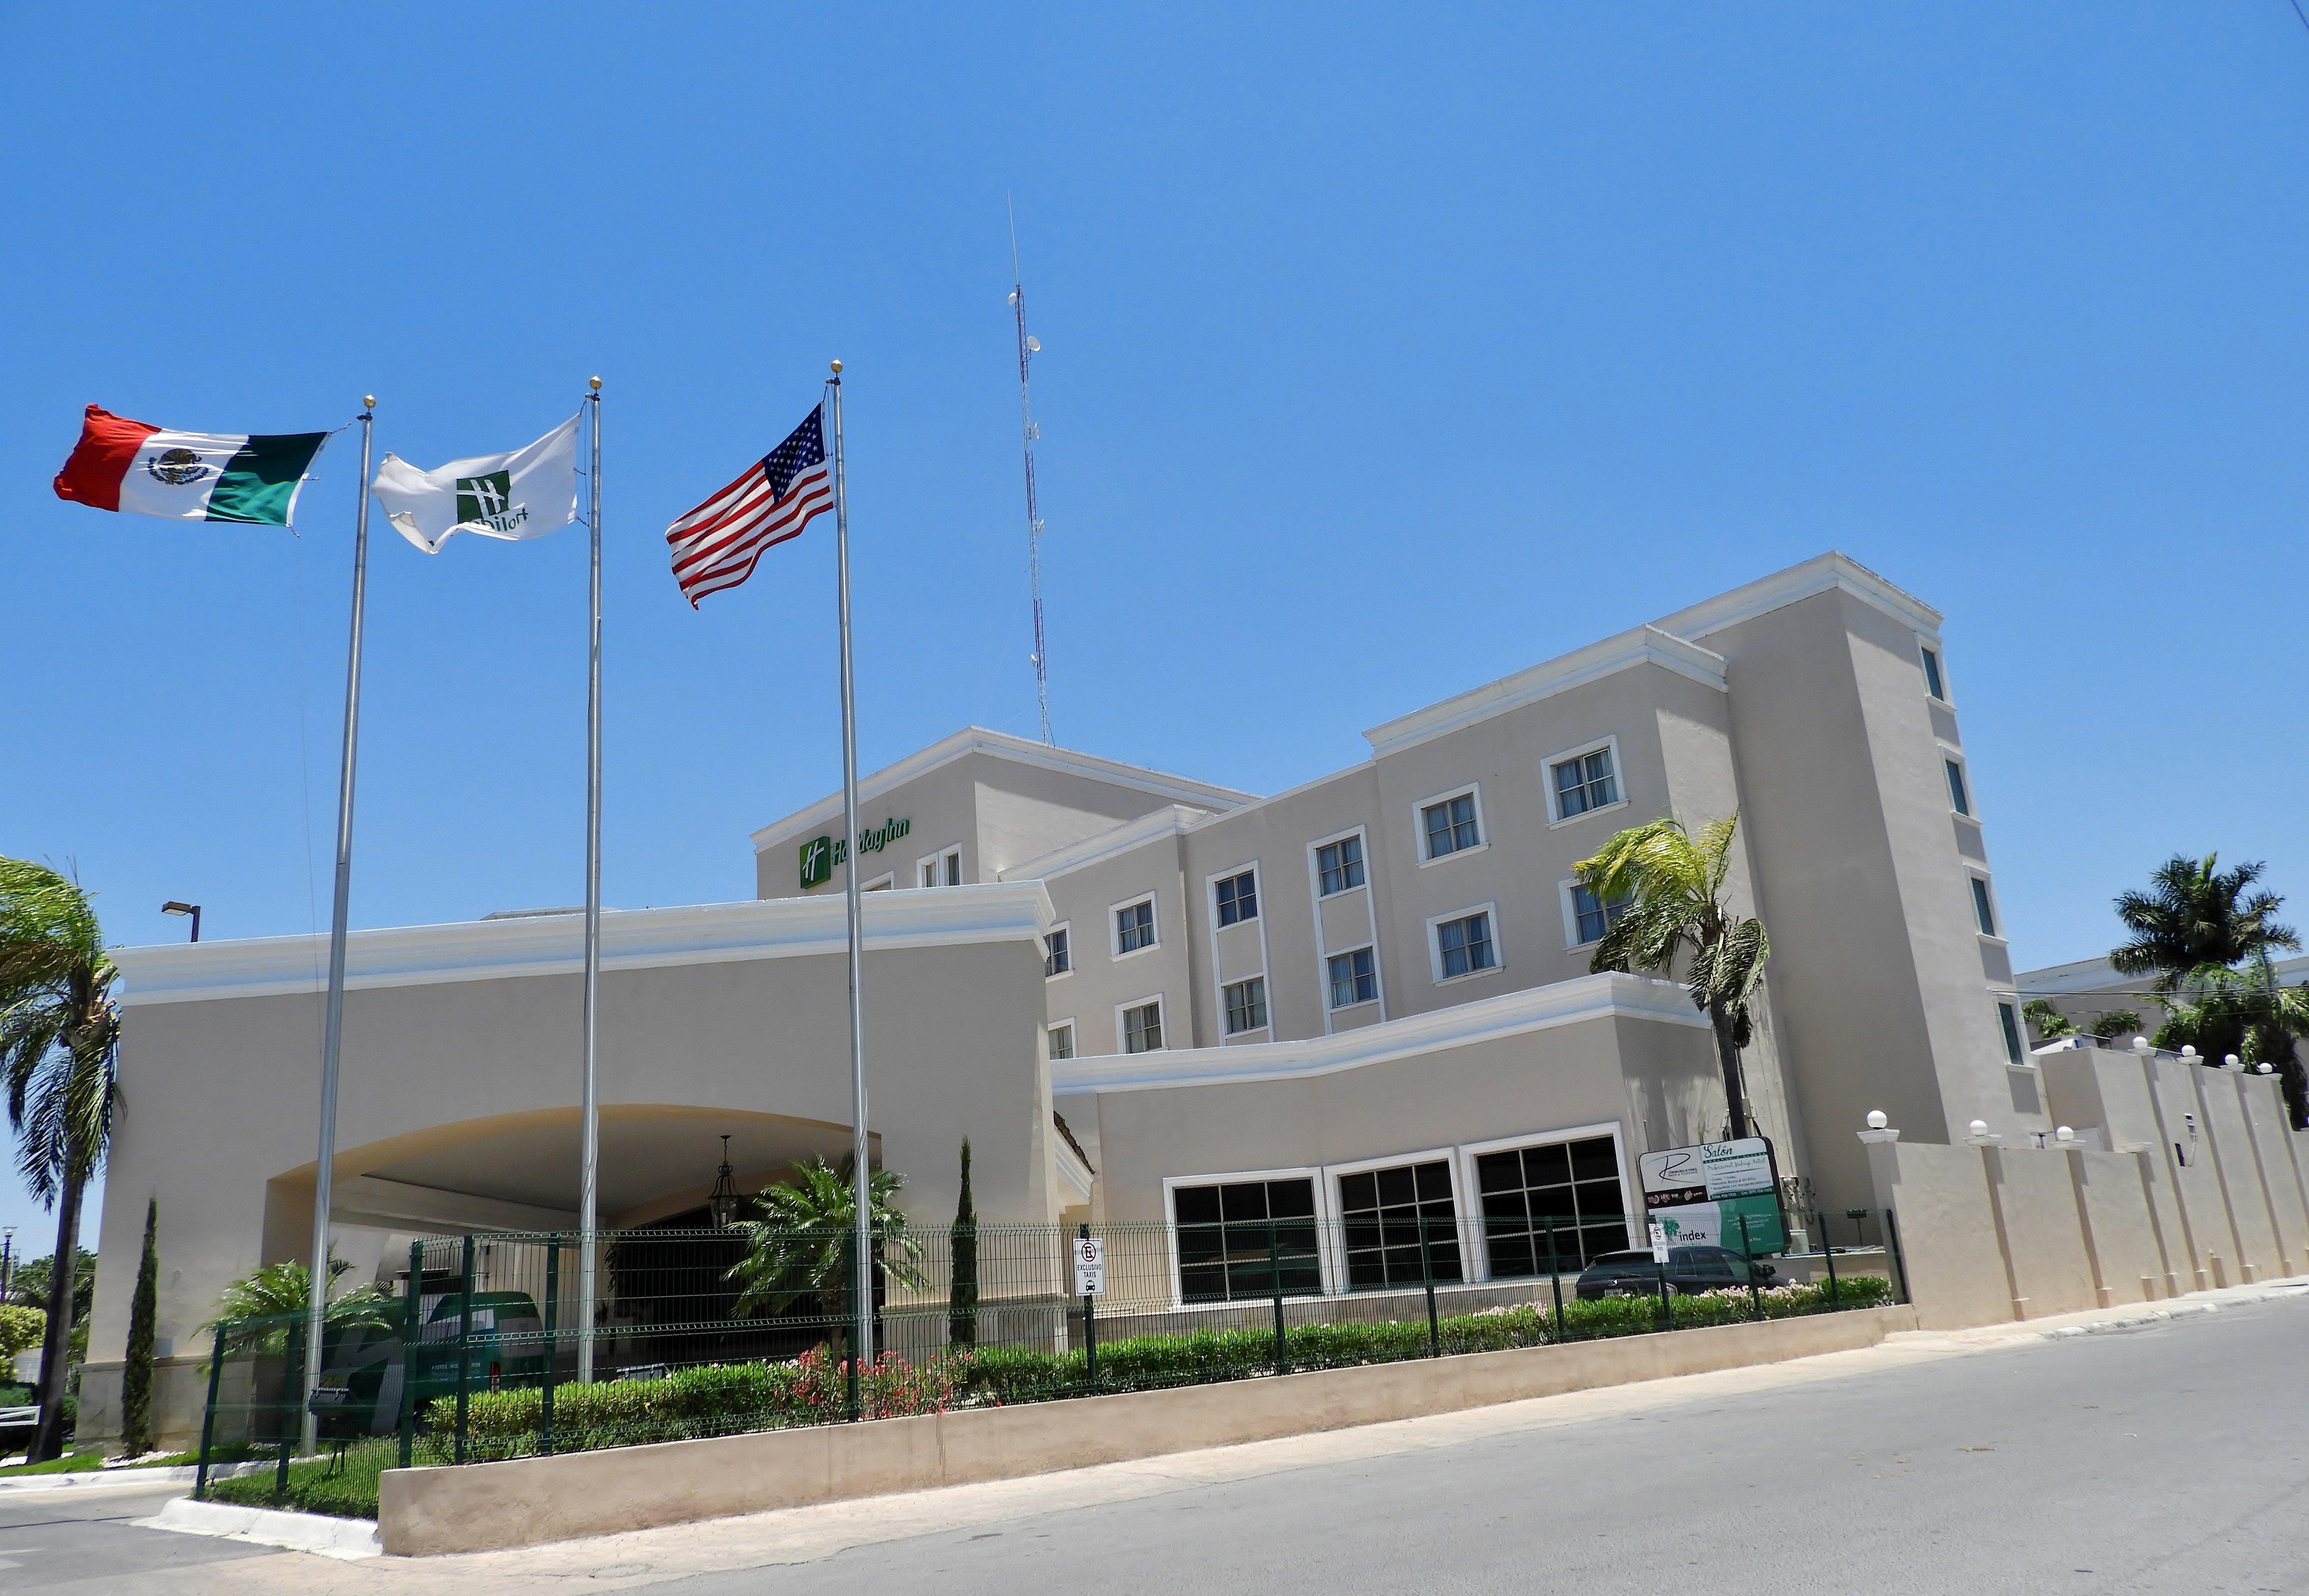
<instances>
[{"instance_id":1,"label":"red, white and green Mexican flag on the leftmost pole","mask_svg":"<svg viewBox=\"0 0 2309 1596\"><path fill-rule=\"evenodd\" d=\"M88 406L55 496L178 521L291 526L326 431L169 431Z\"/></svg>"}]
</instances>

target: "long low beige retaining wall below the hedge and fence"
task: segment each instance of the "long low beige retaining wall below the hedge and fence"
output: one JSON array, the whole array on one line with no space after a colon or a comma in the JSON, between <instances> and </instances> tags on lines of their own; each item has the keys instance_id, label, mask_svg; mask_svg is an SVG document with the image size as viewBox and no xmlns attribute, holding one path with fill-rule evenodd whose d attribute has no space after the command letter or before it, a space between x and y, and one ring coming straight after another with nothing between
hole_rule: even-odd
<instances>
[{"instance_id":1,"label":"long low beige retaining wall below the hedge and fence","mask_svg":"<svg viewBox=\"0 0 2309 1596\"><path fill-rule=\"evenodd\" d=\"M379 1534L386 1552L402 1557L490 1552L1783 1363L1873 1347L1905 1328L1914 1328L1907 1308L1868 1308L1182 1391L764 1430L462 1469L388 1469Z\"/></svg>"}]
</instances>

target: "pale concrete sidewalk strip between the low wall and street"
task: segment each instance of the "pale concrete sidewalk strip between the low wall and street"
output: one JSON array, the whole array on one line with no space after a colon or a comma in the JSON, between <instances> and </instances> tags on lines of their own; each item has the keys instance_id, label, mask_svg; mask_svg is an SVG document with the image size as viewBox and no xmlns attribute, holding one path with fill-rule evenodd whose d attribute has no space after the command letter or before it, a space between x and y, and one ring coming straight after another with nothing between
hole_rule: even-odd
<instances>
[{"instance_id":1,"label":"pale concrete sidewalk strip between the low wall and street","mask_svg":"<svg viewBox=\"0 0 2309 1596\"><path fill-rule=\"evenodd\" d=\"M1986 1356L2048 1340L2154 1331L2159 1326L2189 1324L2224 1308L2274 1301L2309 1303L2309 1278L2198 1292L2170 1303L2129 1303L2122 1308L2030 1319L2025 1324L1995 1324L1967 1331L1900 1331L1882 1345L1859 1352L1831 1352L1789 1363L1718 1370L1711 1375L1679 1375L1429 1418L1402 1418L1355 1430L1328 1430L1245 1446L1173 1453L1143 1462L1113 1462L1069 1474L951 1485L944 1490L836 1501L667 1529L637 1529L593 1541L561 1541L510 1552L418 1559L376 1557L360 1564L282 1552L279 1557L249 1557L212 1568L180 1568L139 1580L132 1589L217 1591L219 1596L224 1591L282 1591L284 1596L300 1591L316 1596L441 1591L443 1596L469 1596L476 1589L492 1594L566 1591L570 1580L586 1580L589 1589L635 1589L697 1573L817 1561L847 1548L970 1529L1037 1513L1129 1501L1335 1462L1432 1451L1492 1435L1547 1430L1609 1416L1639 1416L1688 1402L1852 1379L1940 1358ZM46 1587L55 1596L95 1596L99 1582ZM104 1589L120 1587L104 1584Z\"/></svg>"}]
</instances>

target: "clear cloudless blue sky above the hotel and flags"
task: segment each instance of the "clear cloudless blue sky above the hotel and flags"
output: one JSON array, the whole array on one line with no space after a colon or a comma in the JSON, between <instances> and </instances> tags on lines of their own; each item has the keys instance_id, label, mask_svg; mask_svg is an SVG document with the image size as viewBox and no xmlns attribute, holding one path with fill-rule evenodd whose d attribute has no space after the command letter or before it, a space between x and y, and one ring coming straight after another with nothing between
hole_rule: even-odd
<instances>
[{"instance_id":1,"label":"clear cloudless blue sky above the hotel and flags","mask_svg":"<svg viewBox=\"0 0 2309 1596\"><path fill-rule=\"evenodd\" d=\"M106 517L48 491L83 404L376 392L439 464L600 371L605 893L743 897L838 775L831 537L690 613L660 530L829 355L864 761L1034 729L1007 194L1062 743L1291 786L1838 547L1949 613L2023 966L2175 849L2309 911L2284 0L12 5L0 46L0 851L118 941L328 923L358 450L302 537ZM376 533L353 925L575 902L582 530Z\"/></svg>"}]
</instances>

